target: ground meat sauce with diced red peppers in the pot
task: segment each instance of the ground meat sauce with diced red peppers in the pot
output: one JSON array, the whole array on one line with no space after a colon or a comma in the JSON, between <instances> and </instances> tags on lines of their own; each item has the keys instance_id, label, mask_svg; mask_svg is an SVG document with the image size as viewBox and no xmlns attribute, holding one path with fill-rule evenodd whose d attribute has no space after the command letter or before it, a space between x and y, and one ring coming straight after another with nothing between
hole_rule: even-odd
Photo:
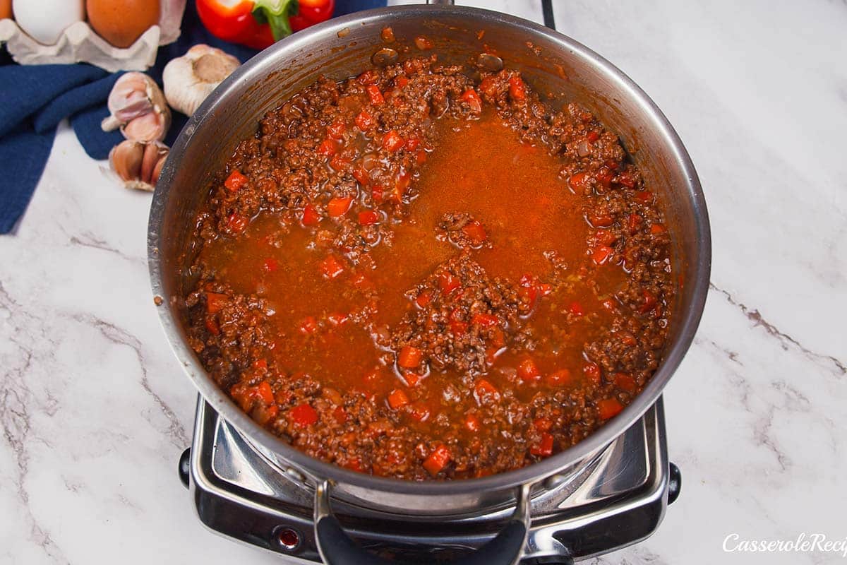
<instances>
[{"instance_id":1,"label":"ground meat sauce with diced red peppers in the pot","mask_svg":"<svg viewBox=\"0 0 847 565\"><path fill-rule=\"evenodd\" d=\"M619 413L673 295L614 132L517 72L435 57L318 80L197 218L191 346L264 428L366 474L520 468Z\"/></svg>"}]
</instances>

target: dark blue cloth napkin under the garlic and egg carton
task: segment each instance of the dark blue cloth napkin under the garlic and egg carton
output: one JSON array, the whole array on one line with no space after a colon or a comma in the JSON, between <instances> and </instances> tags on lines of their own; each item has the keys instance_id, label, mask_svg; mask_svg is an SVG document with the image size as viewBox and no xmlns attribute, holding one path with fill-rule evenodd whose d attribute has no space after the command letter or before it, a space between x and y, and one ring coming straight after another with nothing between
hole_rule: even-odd
<instances>
[{"instance_id":1,"label":"dark blue cloth napkin under the garlic and egg carton","mask_svg":"<svg viewBox=\"0 0 847 565\"><path fill-rule=\"evenodd\" d=\"M380 6L385 6L385 0L336 0L335 15ZM147 74L161 85L164 65L197 43L219 47L242 63L257 53L209 34L189 0L180 39L159 48L156 64ZM62 119L69 118L91 158L107 158L123 139L118 131L100 129L100 122L108 116L108 93L119 76L88 64L14 64L5 47L0 49L0 234L13 230L29 204ZM166 143L174 141L186 120L174 112Z\"/></svg>"}]
</instances>

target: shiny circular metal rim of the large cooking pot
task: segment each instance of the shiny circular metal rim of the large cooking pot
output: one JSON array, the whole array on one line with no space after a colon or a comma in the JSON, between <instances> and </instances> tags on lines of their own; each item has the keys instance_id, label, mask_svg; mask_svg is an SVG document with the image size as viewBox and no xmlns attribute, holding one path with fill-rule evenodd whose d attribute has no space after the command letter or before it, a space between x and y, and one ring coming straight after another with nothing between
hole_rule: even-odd
<instances>
[{"instance_id":1,"label":"shiny circular metal rim of the large cooking pot","mask_svg":"<svg viewBox=\"0 0 847 565\"><path fill-rule=\"evenodd\" d=\"M459 7L449 5L410 5L388 8L375 8L355 14L347 14L339 18L298 31L281 42L274 43L262 53L258 53L241 67L235 70L213 93L202 103L201 107L191 116L188 123L180 132L174 147L169 153L169 158L163 166L156 191L153 195L152 206L147 232L147 263L150 270L152 292L154 296L163 296L166 300L162 287L161 259L159 257L159 241L161 226L165 208L168 202L168 192L171 181L174 178L176 165L179 163L186 148L191 142L194 132L202 125L204 119L215 113L221 106L227 95L241 80L259 78L259 73L268 61L277 58L280 53L297 51L308 47L322 37L335 36L345 28L352 25L390 25L393 19L409 18L438 18L440 14L467 16L477 19L480 25L497 23L510 25L523 30L528 38L532 36L544 36L546 40L558 44L562 49L570 50L584 59L597 73L605 75L612 83L617 83L626 95L639 105L650 118L651 125L661 133L667 149L673 155L673 163L681 169L688 179L686 190L692 200L695 210L695 231L697 236L696 248L697 258L695 263L689 265L691 282L694 285L692 302L689 310L684 312L684 317L679 322L678 335L673 345L667 350L656 373L650 382L633 402L623 409L615 418L612 418L600 429L595 430L589 437L578 444L556 453L538 463L533 463L523 468L507 471L500 474L490 475L479 479L454 479L454 480L427 480L412 481L408 479L390 479L376 477L369 474L356 473L352 470L341 468L333 463L325 463L317 458L308 456L295 447L285 443L279 437L272 435L267 430L256 424L252 418L242 412L232 402L229 396L224 394L219 386L209 377L202 365L197 361L194 352L183 339L178 321L174 318L172 310L166 303L158 307L159 321L163 326L165 335L168 337L174 355L182 363L185 373L197 387L206 401L223 416L236 429L246 435L253 443L280 456L286 463L291 464L306 474L310 479L331 479L345 485L358 488L381 490L398 494L410 494L415 496L450 496L457 494L468 494L485 490L506 489L517 485L532 484L544 479L551 474L556 474L574 463L579 463L591 453L608 445L625 429L642 416L645 411L661 396L662 389L673 375L682 361L685 352L688 351L694 340L697 326L706 304L706 295L709 289L711 271L711 231L708 213L706 211L706 200L703 196L700 180L695 171L688 152L679 139L673 126L667 120L662 111L656 106L645 91L642 91L635 82L617 69L606 58L585 47L572 38L565 36L555 30L550 30L542 25L526 19L521 19L508 14L501 14L483 8ZM255 76L252 76L255 75Z\"/></svg>"}]
</instances>

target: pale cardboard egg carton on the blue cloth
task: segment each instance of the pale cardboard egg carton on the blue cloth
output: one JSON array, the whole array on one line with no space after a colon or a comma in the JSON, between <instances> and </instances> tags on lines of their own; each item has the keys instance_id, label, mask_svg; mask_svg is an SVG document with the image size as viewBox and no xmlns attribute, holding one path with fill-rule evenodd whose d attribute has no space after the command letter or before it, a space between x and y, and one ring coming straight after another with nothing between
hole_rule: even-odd
<instances>
[{"instance_id":1,"label":"pale cardboard egg carton on the blue cloth","mask_svg":"<svg viewBox=\"0 0 847 565\"><path fill-rule=\"evenodd\" d=\"M122 49L114 47L84 21L69 25L53 45L42 45L28 36L12 19L0 19L0 43L19 64L88 63L110 73L119 70L147 70L156 62L160 45L176 41L185 0L164 2L167 13L141 34L135 43Z\"/></svg>"}]
</instances>

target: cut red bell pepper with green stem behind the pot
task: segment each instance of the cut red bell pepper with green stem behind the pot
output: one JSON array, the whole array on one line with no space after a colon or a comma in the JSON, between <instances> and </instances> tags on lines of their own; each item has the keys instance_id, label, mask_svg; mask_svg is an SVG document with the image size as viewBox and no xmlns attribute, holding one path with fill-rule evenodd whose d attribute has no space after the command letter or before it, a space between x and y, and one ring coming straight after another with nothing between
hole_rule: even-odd
<instances>
[{"instance_id":1,"label":"cut red bell pepper with green stem behind the pot","mask_svg":"<svg viewBox=\"0 0 847 565\"><path fill-rule=\"evenodd\" d=\"M197 14L213 36L254 49L329 19L334 8L335 0L197 0Z\"/></svg>"}]
</instances>

